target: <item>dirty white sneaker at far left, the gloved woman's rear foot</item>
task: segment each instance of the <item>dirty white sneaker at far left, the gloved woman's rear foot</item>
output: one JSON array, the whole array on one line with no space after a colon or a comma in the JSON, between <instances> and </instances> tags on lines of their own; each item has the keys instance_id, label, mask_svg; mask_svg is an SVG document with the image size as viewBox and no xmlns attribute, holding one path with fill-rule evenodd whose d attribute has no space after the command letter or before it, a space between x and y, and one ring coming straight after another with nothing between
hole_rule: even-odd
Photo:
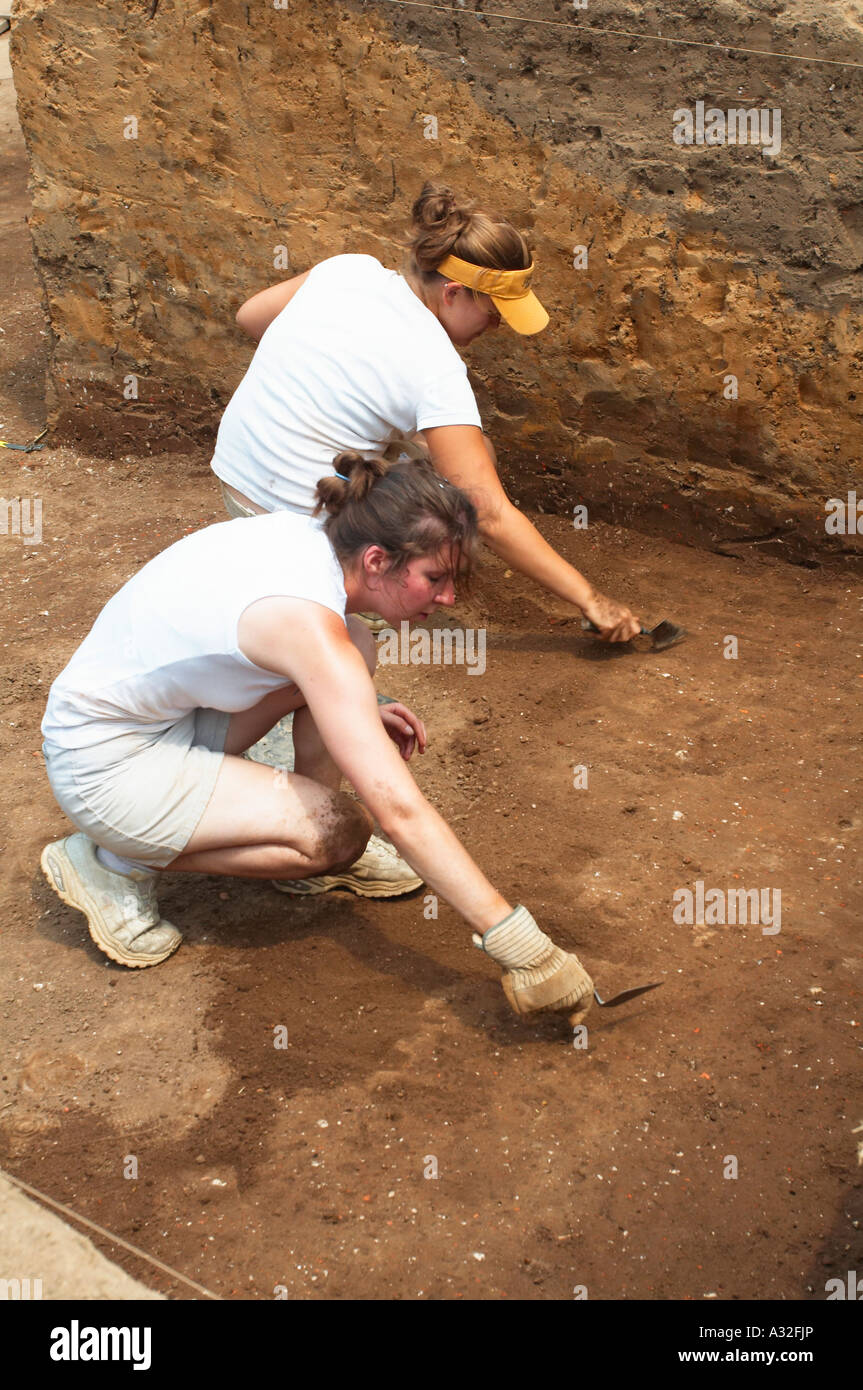
<instances>
[{"instance_id":1,"label":"dirty white sneaker at far left, the gloved woman's rear foot","mask_svg":"<svg viewBox=\"0 0 863 1390\"><path fill-rule=\"evenodd\" d=\"M40 862L54 892L86 913L93 941L111 960L140 967L176 951L182 935L160 917L151 874L128 877L106 869L81 831L46 845Z\"/></svg>"}]
</instances>

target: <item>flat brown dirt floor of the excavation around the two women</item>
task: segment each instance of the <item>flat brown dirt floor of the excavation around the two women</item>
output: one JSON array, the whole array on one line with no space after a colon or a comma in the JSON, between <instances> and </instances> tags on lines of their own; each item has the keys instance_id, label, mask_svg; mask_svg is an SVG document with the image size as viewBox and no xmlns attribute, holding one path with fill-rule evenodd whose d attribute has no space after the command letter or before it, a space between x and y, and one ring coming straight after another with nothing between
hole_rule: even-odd
<instances>
[{"instance_id":1,"label":"flat brown dirt floor of the excavation around the two women","mask_svg":"<svg viewBox=\"0 0 863 1390\"><path fill-rule=\"evenodd\" d=\"M3 89L0 438L24 442L49 339ZM595 1009L580 1049L561 1019L510 1013L424 891L165 876L182 948L106 962L39 872L69 830L47 689L101 603L224 512L203 453L54 443L0 450L3 496L43 505L40 543L0 538L0 1166L233 1298L823 1300L863 1269L860 581L543 516L598 585L689 639L599 649L489 559L457 609L488 630L485 674L382 670L427 720L421 787L500 891L606 994L664 981ZM699 880L780 890L781 931L678 926L673 895Z\"/></svg>"}]
</instances>

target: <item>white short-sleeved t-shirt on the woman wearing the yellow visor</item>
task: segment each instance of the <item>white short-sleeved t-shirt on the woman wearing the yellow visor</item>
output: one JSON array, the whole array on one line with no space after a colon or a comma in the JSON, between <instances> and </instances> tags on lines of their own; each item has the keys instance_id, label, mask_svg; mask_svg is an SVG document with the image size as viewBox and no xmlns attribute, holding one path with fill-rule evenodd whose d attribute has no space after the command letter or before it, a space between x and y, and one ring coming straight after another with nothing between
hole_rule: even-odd
<instances>
[{"instance_id":1,"label":"white short-sleeved t-shirt on the woman wearing the yellow visor","mask_svg":"<svg viewBox=\"0 0 863 1390\"><path fill-rule=\"evenodd\" d=\"M320 261L265 329L222 416L213 471L268 512L310 513L342 449L479 425L441 322L374 256Z\"/></svg>"}]
</instances>

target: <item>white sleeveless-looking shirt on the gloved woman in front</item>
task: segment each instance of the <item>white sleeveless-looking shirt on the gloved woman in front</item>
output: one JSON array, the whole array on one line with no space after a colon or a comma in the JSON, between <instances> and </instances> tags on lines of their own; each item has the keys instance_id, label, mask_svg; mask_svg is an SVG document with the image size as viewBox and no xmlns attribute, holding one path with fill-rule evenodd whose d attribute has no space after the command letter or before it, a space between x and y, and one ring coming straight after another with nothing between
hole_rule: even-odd
<instances>
[{"instance_id":1,"label":"white sleeveless-looking shirt on the gloved woman in front","mask_svg":"<svg viewBox=\"0 0 863 1390\"><path fill-rule=\"evenodd\" d=\"M290 512L220 521L154 556L110 599L51 685L46 739L89 748L192 709L250 709L292 682L242 653L256 599L311 599L345 620L342 566L317 520Z\"/></svg>"}]
</instances>

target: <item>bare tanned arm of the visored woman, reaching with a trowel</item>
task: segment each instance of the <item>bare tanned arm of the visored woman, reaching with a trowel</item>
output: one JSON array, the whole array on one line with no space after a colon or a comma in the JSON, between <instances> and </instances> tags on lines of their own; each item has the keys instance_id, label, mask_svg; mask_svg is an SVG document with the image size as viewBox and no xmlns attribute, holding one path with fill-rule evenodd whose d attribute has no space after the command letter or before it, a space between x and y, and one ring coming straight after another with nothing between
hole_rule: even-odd
<instances>
[{"instance_id":1,"label":"bare tanned arm of the visored woman, reaching with a trowel","mask_svg":"<svg viewBox=\"0 0 863 1390\"><path fill-rule=\"evenodd\" d=\"M479 512L482 539L495 555L580 607L606 641L625 642L636 635L641 624L630 609L599 594L513 506L477 425L436 425L422 435L438 473L471 496Z\"/></svg>"}]
</instances>

